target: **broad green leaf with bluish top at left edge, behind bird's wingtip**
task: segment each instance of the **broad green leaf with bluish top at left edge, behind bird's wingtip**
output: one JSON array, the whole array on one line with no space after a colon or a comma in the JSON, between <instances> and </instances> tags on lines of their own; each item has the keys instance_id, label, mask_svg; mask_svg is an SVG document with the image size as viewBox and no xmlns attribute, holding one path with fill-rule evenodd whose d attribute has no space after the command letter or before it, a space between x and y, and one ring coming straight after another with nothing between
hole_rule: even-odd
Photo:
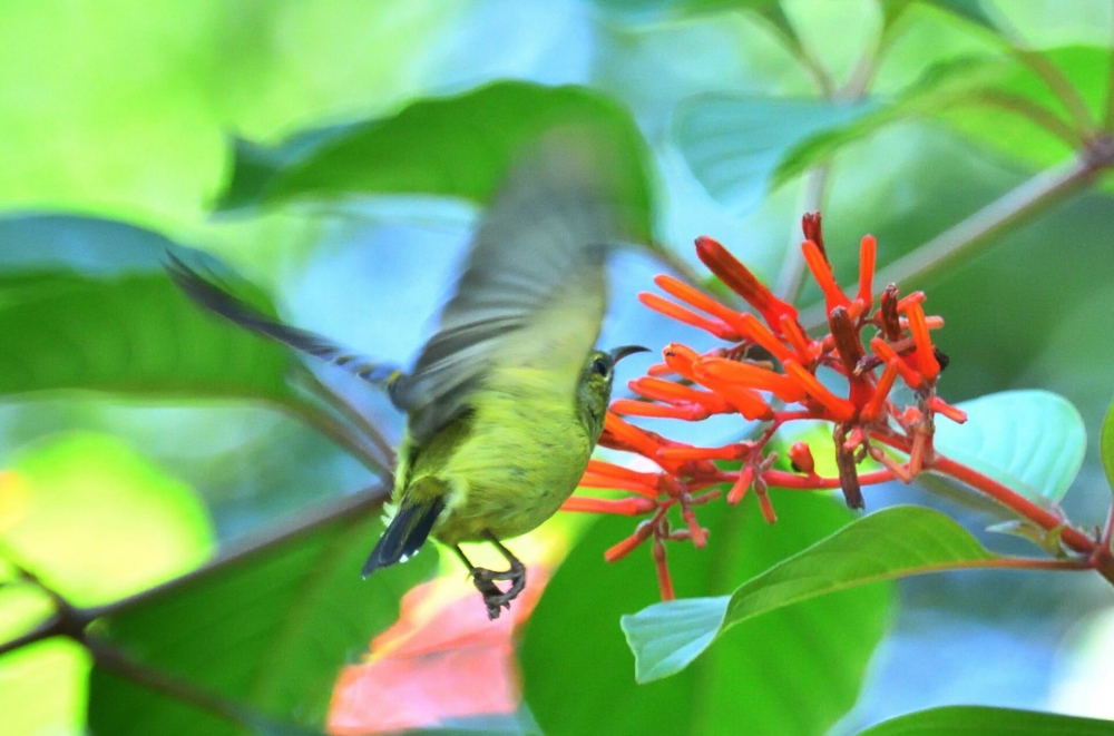
<instances>
[{"instance_id":1,"label":"broad green leaf with bluish top at left edge, behind bird's wingtip","mask_svg":"<svg viewBox=\"0 0 1114 736\"><path fill-rule=\"evenodd\" d=\"M205 314L166 276L167 251L203 254L90 217L0 218L0 394L82 389L287 401L296 362Z\"/></svg>"}]
</instances>

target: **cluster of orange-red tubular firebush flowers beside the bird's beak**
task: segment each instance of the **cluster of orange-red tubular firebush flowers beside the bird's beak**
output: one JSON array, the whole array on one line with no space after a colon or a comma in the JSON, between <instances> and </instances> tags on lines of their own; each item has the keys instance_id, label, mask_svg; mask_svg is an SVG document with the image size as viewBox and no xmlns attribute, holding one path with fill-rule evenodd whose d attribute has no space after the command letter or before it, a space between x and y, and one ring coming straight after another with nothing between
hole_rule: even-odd
<instances>
[{"instance_id":1,"label":"cluster of orange-red tubular firebush flowers beside the bird's beak","mask_svg":"<svg viewBox=\"0 0 1114 736\"><path fill-rule=\"evenodd\" d=\"M569 511L644 517L634 533L605 553L615 561L645 542L656 562L662 598L673 598L665 542L707 543L707 530L696 519L697 507L725 497L736 504L747 494L758 499L763 518L776 520L770 487L812 490L842 489L847 504L864 508L862 487L893 479L911 481L932 459L936 415L962 422L966 415L936 395L947 356L932 344L932 331L944 326L926 315L925 294L900 295L889 284L874 301L877 245L870 235L859 245L859 286L849 296L839 286L824 249L820 214L803 218L801 251L820 286L828 330L810 336L797 308L759 281L720 243L696 238L696 254L707 268L753 312L740 312L681 281L659 275L654 283L666 296L642 293L649 308L724 341L707 353L680 343L662 351L663 362L629 383L638 399L612 402L599 443L653 461L657 470L635 471L593 460L582 488L613 489L624 498L573 497ZM818 372L827 375L824 381ZM895 392L901 381L909 391ZM838 386L838 387L837 387ZM907 396L899 401L898 395ZM715 448L692 446L638 428L624 418L655 416L702 421L713 414L737 414L759 422L746 439ZM783 425L822 420L832 428L838 477L815 472L812 450L798 442L786 452L793 472L774 468L771 440ZM908 449L899 462L883 445ZM867 457L882 470L860 473ZM677 509L680 528L670 520Z\"/></svg>"}]
</instances>

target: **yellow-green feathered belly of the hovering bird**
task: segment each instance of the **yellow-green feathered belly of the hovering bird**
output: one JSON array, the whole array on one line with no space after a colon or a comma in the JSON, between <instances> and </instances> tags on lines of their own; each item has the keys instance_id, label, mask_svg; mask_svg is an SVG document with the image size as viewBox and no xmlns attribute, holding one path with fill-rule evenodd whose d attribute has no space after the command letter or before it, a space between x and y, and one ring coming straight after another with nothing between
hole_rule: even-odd
<instances>
[{"instance_id":1,"label":"yellow-green feathered belly of the hovering bird","mask_svg":"<svg viewBox=\"0 0 1114 736\"><path fill-rule=\"evenodd\" d=\"M525 534L576 490L592 454L583 424L571 411L524 419L511 432L475 433L439 473L458 490L434 528L438 540L456 544L488 533Z\"/></svg>"}]
</instances>

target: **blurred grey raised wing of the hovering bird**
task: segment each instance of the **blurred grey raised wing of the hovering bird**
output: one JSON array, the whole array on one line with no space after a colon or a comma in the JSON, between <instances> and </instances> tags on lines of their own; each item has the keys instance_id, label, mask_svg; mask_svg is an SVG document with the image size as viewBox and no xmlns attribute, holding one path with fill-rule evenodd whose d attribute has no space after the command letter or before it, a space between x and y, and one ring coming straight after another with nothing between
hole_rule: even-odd
<instances>
[{"instance_id":1,"label":"blurred grey raised wing of the hovering bird","mask_svg":"<svg viewBox=\"0 0 1114 736\"><path fill-rule=\"evenodd\" d=\"M612 150L589 129L561 128L511 171L438 332L392 386L418 444L468 408L491 367L545 366L575 385L606 307L607 248L627 239Z\"/></svg>"}]
</instances>

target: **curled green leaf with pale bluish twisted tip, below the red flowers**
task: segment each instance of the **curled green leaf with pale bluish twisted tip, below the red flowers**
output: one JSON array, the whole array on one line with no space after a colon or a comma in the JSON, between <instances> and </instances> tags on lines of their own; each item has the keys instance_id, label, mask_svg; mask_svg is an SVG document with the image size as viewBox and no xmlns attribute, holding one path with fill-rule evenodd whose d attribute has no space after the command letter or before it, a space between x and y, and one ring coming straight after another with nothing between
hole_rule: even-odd
<instances>
[{"instance_id":1,"label":"curled green leaf with pale bluish twisted tip, below the red flowers","mask_svg":"<svg viewBox=\"0 0 1114 736\"><path fill-rule=\"evenodd\" d=\"M995 559L942 513L893 507L848 524L731 596L655 603L624 616L623 631L635 655L638 681L648 683L681 671L727 629L755 616L878 580ZM828 610L841 608L829 603Z\"/></svg>"}]
</instances>

